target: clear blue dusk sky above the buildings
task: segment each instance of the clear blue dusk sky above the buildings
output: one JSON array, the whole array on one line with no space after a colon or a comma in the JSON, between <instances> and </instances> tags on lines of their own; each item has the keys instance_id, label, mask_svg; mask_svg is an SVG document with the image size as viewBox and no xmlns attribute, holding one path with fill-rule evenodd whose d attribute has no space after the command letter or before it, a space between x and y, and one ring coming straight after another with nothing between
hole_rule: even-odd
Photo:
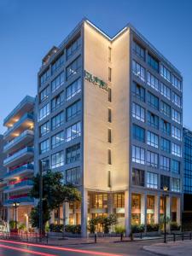
<instances>
[{"instance_id":1,"label":"clear blue dusk sky above the buildings","mask_svg":"<svg viewBox=\"0 0 192 256\"><path fill-rule=\"evenodd\" d=\"M0 0L0 133L20 100L37 93L44 55L87 17L113 36L128 22L183 75L183 125L192 129L192 1Z\"/></svg>"}]
</instances>

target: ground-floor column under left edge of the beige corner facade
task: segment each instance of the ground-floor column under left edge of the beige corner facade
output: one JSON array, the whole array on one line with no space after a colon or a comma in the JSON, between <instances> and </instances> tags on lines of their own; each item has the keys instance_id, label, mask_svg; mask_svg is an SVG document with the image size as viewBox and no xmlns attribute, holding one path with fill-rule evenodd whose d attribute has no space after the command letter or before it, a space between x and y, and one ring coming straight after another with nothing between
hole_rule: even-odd
<instances>
[{"instance_id":1,"label":"ground-floor column under left edge of the beige corner facade","mask_svg":"<svg viewBox=\"0 0 192 256\"><path fill-rule=\"evenodd\" d=\"M81 204L81 236L87 237L87 212L88 212L88 192L82 190L82 204Z\"/></svg>"}]
</instances>

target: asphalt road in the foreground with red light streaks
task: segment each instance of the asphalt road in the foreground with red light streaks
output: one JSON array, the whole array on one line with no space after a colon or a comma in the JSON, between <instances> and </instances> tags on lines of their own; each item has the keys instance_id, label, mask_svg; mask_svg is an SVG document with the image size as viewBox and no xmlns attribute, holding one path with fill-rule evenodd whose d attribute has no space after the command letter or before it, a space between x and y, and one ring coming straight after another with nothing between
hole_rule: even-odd
<instances>
[{"instance_id":1,"label":"asphalt road in the foreground with red light streaks","mask_svg":"<svg viewBox=\"0 0 192 256\"><path fill-rule=\"evenodd\" d=\"M53 247L20 241L0 240L0 256L152 256L154 254L143 251L143 246L154 242L157 241L127 241L119 243L84 244L73 247Z\"/></svg>"}]
</instances>

